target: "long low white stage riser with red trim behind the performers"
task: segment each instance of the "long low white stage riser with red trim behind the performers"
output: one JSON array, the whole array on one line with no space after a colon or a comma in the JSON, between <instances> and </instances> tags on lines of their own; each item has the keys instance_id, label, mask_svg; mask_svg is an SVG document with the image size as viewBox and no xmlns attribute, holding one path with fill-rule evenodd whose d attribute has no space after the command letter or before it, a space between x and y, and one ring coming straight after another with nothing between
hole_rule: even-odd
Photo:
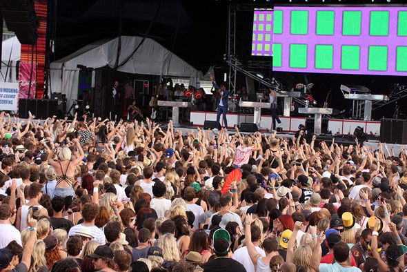
<instances>
[{"instance_id":1,"label":"long low white stage riser with red trim behind the performers","mask_svg":"<svg viewBox=\"0 0 407 272\"><path fill-rule=\"evenodd\" d=\"M214 112L202 112L191 111L190 122L193 126L203 126L206 120L216 121L217 113ZM241 123L253 123L254 117L252 114L244 113L228 113L228 128L233 128L235 125L240 126ZM300 124L306 122L305 117L279 117L281 124L277 124L277 127L281 127L285 133L294 133L298 130ZM221 124L224 126L224 120L221 116ZM373 135L379 136L380 134L380 122L377 121L363 121L363 120L343 120L343 119L329 119L328 131L332 134L353 134L355 128L360 126L364 128L365 133L372 132ZM271 129L272 118L270 115L261 115L260 130Z\"/></svg>"}]
</instances>

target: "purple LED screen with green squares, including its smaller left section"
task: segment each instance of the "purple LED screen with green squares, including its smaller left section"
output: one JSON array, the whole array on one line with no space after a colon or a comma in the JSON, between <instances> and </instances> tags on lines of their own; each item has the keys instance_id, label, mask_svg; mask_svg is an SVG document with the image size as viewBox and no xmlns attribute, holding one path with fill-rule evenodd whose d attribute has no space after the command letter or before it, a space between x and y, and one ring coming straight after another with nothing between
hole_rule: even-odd
<instances>
[{"instance_id":1,"label":"purple LED screen with green squares, including its smaller left section","mask_svg":"<svg viewBox=\"0 0 407 272\"><path fill-rule=\"evenodd\" d=\"M275 71L407 75L406 7L279 6L253 25L252 55Z\"/></svg>"}]
</instances>

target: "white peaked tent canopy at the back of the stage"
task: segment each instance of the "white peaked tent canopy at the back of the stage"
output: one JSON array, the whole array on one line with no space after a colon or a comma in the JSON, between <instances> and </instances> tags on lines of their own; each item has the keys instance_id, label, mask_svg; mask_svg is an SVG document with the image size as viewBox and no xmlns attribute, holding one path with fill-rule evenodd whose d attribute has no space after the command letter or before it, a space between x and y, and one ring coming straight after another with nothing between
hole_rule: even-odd
<instances>
[{"instance_id":1,"label":"white peaked tent canopy at the back of the stage","mask_svg":"<svg viewBox=\"0 0 407 272\"><path fill-rule=\"evenodd\" d=\"M141 43L142 37L122 36L119 64L123 63ZM54 61L51 68L51 91L61 92L67 96L67 106L77 97L79 77L78 65L88 68L114 68L117 59L119 38L110 41L101 40L84 46L77 52ZM157 41L145 39L131 59L117 68L120 72L141 75L158 75L168 77L189 77L190 84L199 82L202 73L187 64L180 57L170 52Z\"/></svg>"}]
</instances>

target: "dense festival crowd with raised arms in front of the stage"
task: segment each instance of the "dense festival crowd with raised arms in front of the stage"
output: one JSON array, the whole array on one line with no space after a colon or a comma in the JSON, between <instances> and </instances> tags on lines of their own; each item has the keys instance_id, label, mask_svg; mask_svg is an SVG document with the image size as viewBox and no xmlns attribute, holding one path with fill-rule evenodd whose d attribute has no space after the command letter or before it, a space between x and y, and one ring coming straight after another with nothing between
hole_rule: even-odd
<instances>
[{"instance_id":1,"label":"dense festival crowd with raised arms in front of the stage","mask_svg":"<svg viewBox=\"0 0 407 272\"><path fill-rule=\"evenodd\" d=\"M404 147L80 118L0 113L0 272L405 269Z\"/></svg>"}]
</instances>

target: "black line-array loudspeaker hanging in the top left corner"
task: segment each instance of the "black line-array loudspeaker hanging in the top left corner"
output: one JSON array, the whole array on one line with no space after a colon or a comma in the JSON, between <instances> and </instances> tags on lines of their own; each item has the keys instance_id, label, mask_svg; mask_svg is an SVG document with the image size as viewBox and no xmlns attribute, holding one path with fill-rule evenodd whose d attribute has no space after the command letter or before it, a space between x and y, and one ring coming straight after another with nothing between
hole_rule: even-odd
<instances>
[{"instance_id":1,"label":"black line-array loudspeaker hanging in the top left corner","mask_svg":"<svg viewBox=\"0 0 407 272\"><path fill-rule=\"evenodd\" d=\"M34 0L1 0L1 12L8 30L16 33L21 44L37 42L39 20Z\"/></svg>"}]
</instances>

